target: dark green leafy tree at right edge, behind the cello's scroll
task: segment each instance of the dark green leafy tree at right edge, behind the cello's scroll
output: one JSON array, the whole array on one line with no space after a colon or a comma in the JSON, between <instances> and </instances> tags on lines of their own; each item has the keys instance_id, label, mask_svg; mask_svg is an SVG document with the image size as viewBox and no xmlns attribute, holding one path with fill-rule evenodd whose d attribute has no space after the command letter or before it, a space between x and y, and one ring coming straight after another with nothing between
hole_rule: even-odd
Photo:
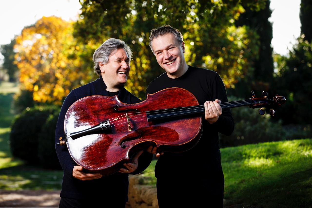
<instances>
[{"instance_id":1,"label":"dark green leafy tree at right edge, behind the cello's scroll","mask_svg":"<svg viewBox=\"0 0 312 208\"><path fill-rule=\"evenodd\" d=\"M278 63L276 91L286 97L276 119L285 124L311 124L312 119L312 44L302 35L289 57L275 56Z\"/></svg>"}]
</instances>

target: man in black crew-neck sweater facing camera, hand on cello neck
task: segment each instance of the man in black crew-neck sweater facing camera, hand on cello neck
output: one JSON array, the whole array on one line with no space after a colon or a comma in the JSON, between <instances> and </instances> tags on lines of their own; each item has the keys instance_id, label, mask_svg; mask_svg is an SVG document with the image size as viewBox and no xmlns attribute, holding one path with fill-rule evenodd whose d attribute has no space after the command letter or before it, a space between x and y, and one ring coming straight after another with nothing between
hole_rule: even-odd
<instances>
[{"instance_id":1,"label":"man in black crew-neck sweater facing camera, hand on cello neck","mask_svg":"<svg viewBox=\"0 0 312 208\"><path fill-rule=\"evenodd\" d=\"M230 109L222 111L219 104L227 102L222 79L215 71L187 65L183 36L178 29L169 25L153 29L149 46L165 73L149 84L146 93L180 87L205 106L203 132L195 147L164 154L157 152L157 148L148 149L157 157L163 154L155 167L159 207L223 207L224 177L218 133L230 135L234 120Z\"/></svg>"}]
</instances>

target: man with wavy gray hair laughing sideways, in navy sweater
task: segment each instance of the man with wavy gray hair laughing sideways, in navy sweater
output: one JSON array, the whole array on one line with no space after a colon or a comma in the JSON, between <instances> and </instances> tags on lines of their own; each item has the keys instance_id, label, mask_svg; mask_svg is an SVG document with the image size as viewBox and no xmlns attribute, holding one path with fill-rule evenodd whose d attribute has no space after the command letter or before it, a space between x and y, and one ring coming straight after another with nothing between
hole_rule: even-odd
<instances>
[{"instance_id":1,"label":"man with wavy gray hair laughing sideways, in navy sweater","mask_svg":"<svg viewBox=\"0 0 312 208\"><path fill-rule=\"evenodd\" d=\"M65 138L64 119L67 109L90 95L114 96L124 103L139 103L141 100L124 88L130 71L132 51L119 39L110 38L93 54L94 71L99 78L71 90L61 108L56 125L55 141ZM71 158L66 146L56 146L56 153L64 171L59 207L99 207L114 203L113 207L125 207L128 201L128 174L137 174L149 165L152 154L137 153L119 172L102 177L100 173L86 173ZM142 155L141 155L142 154ZM97 179L97 180L95 180ZM101 190L101 191L99 191Z\"/></svg>"}]
</instances>

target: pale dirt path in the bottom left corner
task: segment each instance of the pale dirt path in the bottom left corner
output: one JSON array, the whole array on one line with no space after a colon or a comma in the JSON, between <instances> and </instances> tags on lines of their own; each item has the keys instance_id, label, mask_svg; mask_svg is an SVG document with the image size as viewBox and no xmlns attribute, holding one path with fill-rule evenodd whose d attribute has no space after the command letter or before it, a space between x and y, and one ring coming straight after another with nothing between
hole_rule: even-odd
<instances>
[{"instance_id":1,"label":"pale dirt path in the bottom left corner","mask_svg":"<svg viewBox=\"0 0 312 208\"><path fill-rule=\"evenodd\" d=\"M58 207L60 191L3 191L0 207Z\"/></svg>"}]
</instances>

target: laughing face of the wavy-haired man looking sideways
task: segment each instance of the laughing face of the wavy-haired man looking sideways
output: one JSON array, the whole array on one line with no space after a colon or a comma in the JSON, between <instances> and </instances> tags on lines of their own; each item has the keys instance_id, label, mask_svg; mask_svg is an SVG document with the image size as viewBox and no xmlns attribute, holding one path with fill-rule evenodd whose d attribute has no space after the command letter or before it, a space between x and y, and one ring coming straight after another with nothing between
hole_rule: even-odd
<instances>
[{"instance_id":1,"label":"laughing face of the wavy-haired man looking sideways","mask_svg":"<svg viewBox=\"0 0 312 208\"><path fill-rule=\"evenodd\" d=\"M110 55L107 64L99 63L101 75L108 89L120 88L127 82L130 71L130 59L123 48Z\"/></svg>"}]
</instances>

